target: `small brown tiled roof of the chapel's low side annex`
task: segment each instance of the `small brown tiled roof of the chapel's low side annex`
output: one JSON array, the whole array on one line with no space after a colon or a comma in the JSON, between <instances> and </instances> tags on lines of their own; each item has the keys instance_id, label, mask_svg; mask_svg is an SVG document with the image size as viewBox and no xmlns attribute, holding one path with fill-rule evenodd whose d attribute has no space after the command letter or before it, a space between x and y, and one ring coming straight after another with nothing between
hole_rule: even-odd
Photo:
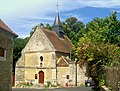
<instances>
[{"instance_id":1,"label":"small brown tiled roof of the chapel's low side annex","mask_svg":"<svg viewBox=\"0 0 120 91\"><path fill-rule=\"evenodd\" d=\"M70 63L74 62L64 56L61 56L57 61L57 67L69 67Z\"/></svg>"}]
</instances>

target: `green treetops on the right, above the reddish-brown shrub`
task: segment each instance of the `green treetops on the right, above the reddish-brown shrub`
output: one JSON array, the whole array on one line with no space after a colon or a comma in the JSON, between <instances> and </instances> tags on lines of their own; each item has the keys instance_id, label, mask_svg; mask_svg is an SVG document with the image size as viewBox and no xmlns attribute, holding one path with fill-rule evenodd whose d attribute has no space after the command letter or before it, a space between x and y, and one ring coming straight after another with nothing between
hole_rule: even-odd
<instances>
[{"instance_id":1,"label":"green treetops on the right, above the reddish-brown shrub","mask_svg":"<svg viewBox=\"0 0 120 91\"><path fill-rule=\"evenodd\" d=\"M91 36L90 33L94 32L99 35L99 42L117 44L120 46L120 21L117 19L117 13L112 12L110 17L94 18L86 25L85 30L88 30L87 36ZM92 38L92 35L90 38ZM94 37L93 37L94 38ZM94 39L93 39L94 40Z\"/></svg>"}]
</instances>

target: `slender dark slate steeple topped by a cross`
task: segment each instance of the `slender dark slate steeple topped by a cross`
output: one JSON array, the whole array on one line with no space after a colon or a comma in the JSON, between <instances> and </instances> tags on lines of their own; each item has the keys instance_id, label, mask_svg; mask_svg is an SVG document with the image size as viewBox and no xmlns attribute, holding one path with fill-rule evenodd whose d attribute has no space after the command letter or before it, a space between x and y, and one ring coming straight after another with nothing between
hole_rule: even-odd
<instances>
[{"instance_id":1,"label":"slender dark slate steeple topped by a cross","mask_svg":"<svg viewBox=\"0 0 120 91\"><path fill-rule=\"evenodd\" d=\"M52 26L52 31L55 31L59 37L63 38L64 30L62 27L62 23L60 22L60 17L59 17L59 12L58 12L59 5L57 4L56 6L57 6L57 14L55 17L54 24Z\"/></svg>"}]
</instances>

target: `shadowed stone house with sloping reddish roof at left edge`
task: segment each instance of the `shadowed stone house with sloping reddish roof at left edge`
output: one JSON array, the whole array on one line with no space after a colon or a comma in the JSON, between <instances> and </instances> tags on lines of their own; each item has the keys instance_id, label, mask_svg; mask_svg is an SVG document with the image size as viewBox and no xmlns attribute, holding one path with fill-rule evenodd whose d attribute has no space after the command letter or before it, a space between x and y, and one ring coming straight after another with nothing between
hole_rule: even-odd
<instances>
[{"instance_id":1,"label":"shadowed stone house with sloping reddish roof at left edge","mask_svg":"<svg viewBox=\"0 0 120 91\"><path fill-rule=\"evenodd\" d=\"M13 38L16 37L0 19L0 91L12 91Z\"/></svg>"}]
</instances>

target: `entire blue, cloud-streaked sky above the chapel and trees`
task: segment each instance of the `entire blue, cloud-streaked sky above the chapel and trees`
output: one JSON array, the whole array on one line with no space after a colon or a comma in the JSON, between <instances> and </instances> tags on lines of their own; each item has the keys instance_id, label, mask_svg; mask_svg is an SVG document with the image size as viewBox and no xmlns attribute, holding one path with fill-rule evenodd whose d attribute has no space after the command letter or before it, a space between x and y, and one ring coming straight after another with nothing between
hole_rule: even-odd
<instances>
[{"instance_id":1,"label":"entire blue, cloud-streaked sky above the chapel and trees","mask_svg":"<svg viewBox=\"0 0 120 91\"><path fill-rule=\"evenodd\" d=\"M95 17L110 16L114 10L120 20L120 0L0 0L0 19L25 38L35 25L53 24L57 3L61 22L76 17L87 24Z\"/></svg>"}]
</instances>

